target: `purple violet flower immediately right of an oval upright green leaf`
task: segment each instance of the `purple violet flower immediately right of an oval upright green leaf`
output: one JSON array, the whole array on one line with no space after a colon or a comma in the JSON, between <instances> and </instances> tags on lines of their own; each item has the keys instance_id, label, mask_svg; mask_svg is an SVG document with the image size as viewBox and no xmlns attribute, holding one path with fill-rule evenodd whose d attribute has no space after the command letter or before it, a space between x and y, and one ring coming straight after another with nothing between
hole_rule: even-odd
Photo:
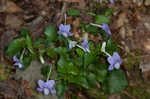
<instances>
[{"instance_id":1,"label":"purple violet flower immediately right of an oval upright green leaf","mask_svg":"<svg viewBox=\"0 0 150 99\"><path fill-rule=\"evenodd\" d=\"M70 29L71 29L70 25L60 24L58 34L63 35L64 37L72 36L73 34L71 32L69 32Z\"/></svg>"}]
</instances>

